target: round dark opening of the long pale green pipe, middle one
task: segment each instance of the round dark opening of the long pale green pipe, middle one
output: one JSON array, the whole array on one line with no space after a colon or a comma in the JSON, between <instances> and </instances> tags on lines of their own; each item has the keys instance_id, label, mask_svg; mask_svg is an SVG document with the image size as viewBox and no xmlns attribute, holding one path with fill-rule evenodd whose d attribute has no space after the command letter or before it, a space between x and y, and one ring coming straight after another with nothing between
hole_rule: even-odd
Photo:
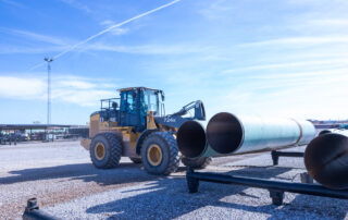
<instances>
[{"instance_id":1,"label":"round dark opening of the long pale green pipe, middle one","mask_svg":"<svg viewBox=\"0 0 348 220\"><path fill-rule=\"evenodd\" d=\"M231 113L217 113L208 123L208 143L219 154L231 154L237 150L243 137L243 125Z\"/></svg>"}]
</instances>

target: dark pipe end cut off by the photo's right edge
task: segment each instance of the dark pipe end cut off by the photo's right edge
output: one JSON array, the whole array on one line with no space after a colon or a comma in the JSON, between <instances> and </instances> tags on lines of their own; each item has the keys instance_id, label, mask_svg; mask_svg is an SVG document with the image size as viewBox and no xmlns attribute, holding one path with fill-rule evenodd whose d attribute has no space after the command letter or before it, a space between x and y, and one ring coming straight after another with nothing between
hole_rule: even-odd
<instances>
[{"instance_id":1,"label":"dark pipe end cut off by the photo's right edge","mask_svg":"<svg viewBox=\"0 0 348 220\"><path fill-rule=\"evenodd\" d=\"M322 185L334 190L348 188L348 137L326 133L315 137L306 148L308 173Z\"/></svg>"}]
</instances>

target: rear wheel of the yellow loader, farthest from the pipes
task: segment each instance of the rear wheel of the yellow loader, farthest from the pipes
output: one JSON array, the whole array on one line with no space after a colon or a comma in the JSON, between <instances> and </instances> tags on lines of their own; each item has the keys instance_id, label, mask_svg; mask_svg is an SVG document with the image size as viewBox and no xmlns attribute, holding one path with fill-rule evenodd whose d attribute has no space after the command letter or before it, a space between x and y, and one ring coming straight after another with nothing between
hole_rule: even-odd
<instances>
[{"instance_id":1,"label":"rear wheel of the yellow loader, farthest from the pipes","mask_svg":"<svg viewBox=\"0 0 348 220\"><path fill-rule=\"evenodd\" d=\"M122 137L113 133L100 133L92 138L89 154L96 168L115 168L121 160Z\"/></svg>"}]
</instances>

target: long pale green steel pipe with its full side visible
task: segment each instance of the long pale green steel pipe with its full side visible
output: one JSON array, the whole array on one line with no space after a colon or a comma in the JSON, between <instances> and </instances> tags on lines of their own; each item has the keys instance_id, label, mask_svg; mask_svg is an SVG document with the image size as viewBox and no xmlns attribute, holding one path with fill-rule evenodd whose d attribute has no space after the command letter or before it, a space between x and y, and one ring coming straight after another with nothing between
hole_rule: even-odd
<instances>
[{"instance_id":1,"label":"long pale green steel pipe with its full side visible","mask_svg":"<svg viewBox=\"0 0 348 220\"><path fill-rule=\"evenodd\" d=\"M207 140L222 155L271 150L308 144L315 129L308 121L294 119L265 119L215 114L207 126Z\"/></svg>"}]
</instances>

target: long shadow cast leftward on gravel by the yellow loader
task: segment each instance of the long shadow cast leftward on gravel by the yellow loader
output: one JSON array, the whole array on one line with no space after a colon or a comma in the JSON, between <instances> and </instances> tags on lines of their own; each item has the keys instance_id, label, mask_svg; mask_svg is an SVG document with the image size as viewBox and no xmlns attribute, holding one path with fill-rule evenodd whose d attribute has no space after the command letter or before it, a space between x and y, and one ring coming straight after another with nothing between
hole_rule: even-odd
<instances>
[{"instance_id":1,"label":"long shadow cast leftward on gravel by the yellow loader","mask_svg":"<svg viewBox=\"0 0 348 220\"><path fill-rule=\"evenodd\" d=\"M99 170L91 163L66 164L49 168L35 168L11 171L14 176L0 178L1 184L13 184L39 180L66 179L96 182L100 185L111 185L153 180L157 176L147 174L141 164L122 162L115 169ZM66 180L61 180L66 181Z\"/></svg>"}]
</instances>

